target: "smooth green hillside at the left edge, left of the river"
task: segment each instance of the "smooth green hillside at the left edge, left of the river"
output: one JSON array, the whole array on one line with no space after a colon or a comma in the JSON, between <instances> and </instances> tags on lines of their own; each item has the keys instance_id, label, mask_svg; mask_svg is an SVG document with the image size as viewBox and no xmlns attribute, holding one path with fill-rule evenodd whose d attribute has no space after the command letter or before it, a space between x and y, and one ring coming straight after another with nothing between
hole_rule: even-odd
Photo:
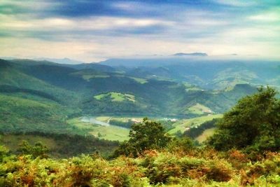
<instances>
[{"instance_id":1,"label":"smooth green hillside at the left edge, left of the river","mask_svg":"<svg viewBox=\"0 0 280 187\"><path fill-rule=\"evenodd\" d=\"M65 123L73 111L55 102L0 95L1 132L70 132Z\"/></svg>"}]
</instances>

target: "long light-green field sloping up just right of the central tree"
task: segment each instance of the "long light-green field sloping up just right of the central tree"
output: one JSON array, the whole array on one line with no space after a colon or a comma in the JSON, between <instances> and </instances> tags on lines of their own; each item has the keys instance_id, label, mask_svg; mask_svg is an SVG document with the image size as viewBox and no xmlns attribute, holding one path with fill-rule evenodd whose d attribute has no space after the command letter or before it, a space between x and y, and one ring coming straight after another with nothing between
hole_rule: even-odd
<instances>
[{"instance_id":1,"label":"long light-green field sloping up just right of the central tree","mask_svg":"<svg viewBox=\"0 0 280 187\"><path fill-rule=\"evenodd\" d=\"M211 116L202 116L198 118L190 118L190 119L183 119L179 120L176 123L173 124L174 128L172 130L169 130L169 134L176 134L176 132L185 132L186 128L188 127L196 127L201 125L207 120L212 120L214 118L221 118L223 115L222 114L215 114Z\"/></svg>"}]
</instances>

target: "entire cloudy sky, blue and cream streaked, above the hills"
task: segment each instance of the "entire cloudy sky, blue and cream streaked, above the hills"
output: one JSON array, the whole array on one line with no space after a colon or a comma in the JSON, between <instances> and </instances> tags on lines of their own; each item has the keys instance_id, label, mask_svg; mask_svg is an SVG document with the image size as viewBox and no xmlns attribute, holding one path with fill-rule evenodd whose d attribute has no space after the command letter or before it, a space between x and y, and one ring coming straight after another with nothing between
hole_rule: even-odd
<instances>
[{"instance_id":1,"label":"entire cloudy sky, blue and cream streaked, above the hills","mask_svg":"<svg viewBox=\"0 0 280 187\"><path fill-rule=\"evenodd\" d=\"M0 57L195 52L280 59L280 1L0 1Z\"/></svg>"}]
</instances>

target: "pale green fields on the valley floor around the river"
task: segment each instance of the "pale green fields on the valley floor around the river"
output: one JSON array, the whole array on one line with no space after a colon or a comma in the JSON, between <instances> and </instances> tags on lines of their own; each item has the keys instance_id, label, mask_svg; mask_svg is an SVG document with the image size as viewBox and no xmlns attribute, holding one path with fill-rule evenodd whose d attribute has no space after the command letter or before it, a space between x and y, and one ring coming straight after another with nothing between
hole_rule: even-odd
<instances>
[{"instance_id":1,"label":"pale green fields on the valley floor around the river","mask_svg":"<svg viewBox=\"0 0 280 187\"><path fill-rule=\"evenodd\" d=\"M221 118L223 115L216 114L211 116L202 116L198 118L190 118L190 119L169 119L169 118L151 118L151 120L160 121L163 125L165 123L169 124L168 132L171 135L176 135L177 133L183 133L190 127L197 127L202 123L212 120L214 118ZM94 120L103 122L103 123L110 123L118 121L119 123L139 123L142 121L143 118L141 117L128 117L128 116L97 116L92 117ZM67 123L75 128L79 134L92 134L94 137L99 139L106 139L112 141L125 141L128 139L128 135L130 132L130 127L126 126L118 126L118 125L98 125L97 123L88 123L81 120L82 118L73 118L68 120ZM170 125L171 124L171 125ZM209 135L212 134L214 130L206 130L200 137L197 137L197 140L202 142L204 141Z\"/></svg>"}]
</instances>

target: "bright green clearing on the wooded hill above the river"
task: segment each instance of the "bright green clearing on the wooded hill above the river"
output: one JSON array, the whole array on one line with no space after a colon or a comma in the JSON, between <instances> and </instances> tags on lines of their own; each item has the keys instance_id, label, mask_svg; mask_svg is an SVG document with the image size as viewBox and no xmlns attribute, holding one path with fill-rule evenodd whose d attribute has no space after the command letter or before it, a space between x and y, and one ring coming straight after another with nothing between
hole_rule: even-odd
<instances>
[{"instance_id":1,"label":"bright green clearing on the wooded hill above the river","mask_svg":"<svg viewBox=\"0 0 280 187\"><path fill-rule=\"evenodd\" d=\"M112 102L123 102L125 100L130 102L135 102L135 96L130 94L123 94L120 92L108 92L106 94L95 95L94 98L97 100L101 100L104 97L111 97Z\"/></svg>"}]
</instances>

